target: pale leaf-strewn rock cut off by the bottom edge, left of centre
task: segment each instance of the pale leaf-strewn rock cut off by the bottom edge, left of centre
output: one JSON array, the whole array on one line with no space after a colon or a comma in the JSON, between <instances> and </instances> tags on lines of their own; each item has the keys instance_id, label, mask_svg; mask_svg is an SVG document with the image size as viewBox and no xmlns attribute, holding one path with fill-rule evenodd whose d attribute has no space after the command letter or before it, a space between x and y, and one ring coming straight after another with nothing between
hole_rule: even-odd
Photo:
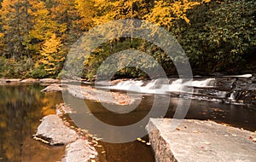
<instances>
[{"instance_id":1,"label":"pale leaf-strewn rock cut off by the bottom edge, left of centre","mask_svg":"<svg viewBox=\"0 0 256 162\"><path fill-rule=\"evenodd\" d=\"M70 143L66 147L65 158L62 159L62 162L80 162L80 161L89 161L92 157L96 158L97 152L96 149L91 147L88 144L87 140L78 139L75 142Z\"/></svg>"}]
</instances>

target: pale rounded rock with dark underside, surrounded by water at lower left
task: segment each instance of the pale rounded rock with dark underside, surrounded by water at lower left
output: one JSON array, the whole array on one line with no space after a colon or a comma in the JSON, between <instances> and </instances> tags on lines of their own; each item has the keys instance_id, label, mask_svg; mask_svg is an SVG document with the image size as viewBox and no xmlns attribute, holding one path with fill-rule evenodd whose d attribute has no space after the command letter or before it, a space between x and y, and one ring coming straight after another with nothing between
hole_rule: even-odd
<instances>
[{"instance_id":1,"label":"pale rounded rock with dark underside, surrounded by water at lower left","mask_svg":"<svg viewBox=\"0 0 256 162\"><path fill-rule=\"evenodd\" d=\"M75 130L68 128L58 115L48 115L42 119L38 126L36 137L40 141L49 142L50 145L67 144L78 139Z\"/></svg>"}]
</instances>

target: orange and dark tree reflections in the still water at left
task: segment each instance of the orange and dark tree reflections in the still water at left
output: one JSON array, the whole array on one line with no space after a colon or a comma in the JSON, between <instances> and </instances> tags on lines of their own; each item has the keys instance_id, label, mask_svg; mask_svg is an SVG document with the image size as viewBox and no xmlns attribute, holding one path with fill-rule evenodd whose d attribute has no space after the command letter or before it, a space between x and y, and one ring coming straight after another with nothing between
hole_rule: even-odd
<instances>
[{"instance_id":1,"label":"orange and dark tree reflections in the still water at left","mask_svg":"<svg viewBox=\"0 0 256 162\"><path fill-rule=\"evenodd\" d=\"M2 161L56 161L64 153L63 148L49 149L32 140L39 120L55 113L55 104L61 102L61 94L44 94L42 89L38 84L0 86Z\"/></svg>"}]
</instances>

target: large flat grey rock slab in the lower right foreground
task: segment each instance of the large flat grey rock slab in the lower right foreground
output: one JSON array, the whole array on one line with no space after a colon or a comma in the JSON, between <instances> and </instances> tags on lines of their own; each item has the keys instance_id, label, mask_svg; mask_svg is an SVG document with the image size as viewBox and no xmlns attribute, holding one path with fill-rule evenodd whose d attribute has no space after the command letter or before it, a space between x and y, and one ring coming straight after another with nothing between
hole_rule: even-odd
<instances>
[{"instance_id":1,"label":"large flat grey rock slab in the lower right foreground","mask_svg":"<svg viewBox=\"0 0 256 162\"><path fill-rule=\"evenodd\" d=\"M183 119L172 130L174 120L149 119L146 129L156 161L256 161L255 133L193 119Z\"/></svg>"}]
</instances>

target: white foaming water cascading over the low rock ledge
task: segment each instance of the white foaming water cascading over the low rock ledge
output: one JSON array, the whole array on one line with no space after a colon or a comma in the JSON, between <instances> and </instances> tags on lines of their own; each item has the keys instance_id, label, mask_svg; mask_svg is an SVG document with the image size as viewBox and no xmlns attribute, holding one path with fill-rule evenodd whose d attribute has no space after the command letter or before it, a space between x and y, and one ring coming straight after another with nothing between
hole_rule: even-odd
<instances>
[{"instance_id":1,"label":"white foaming water cascading over the low rock ledge","mask_svg":"<svg viewBox=\"0 0 256 162\"><path fill-rule=\"evenodd\" d=\"M148 84L143 83L143 81L126 80L119 82L119 84L115 84L113 86L105 86L102 88L111 90L127 90L137 93L167 94L170 92L191 92L192 87L207 88L212 87L215 84L214 78L189 81L184 81L183 79L178 78L177 80L172 81L171 84L159 84L162 83L162 80L163 79L154 79L148 82Z\"/></svg>"}]
</instances>

